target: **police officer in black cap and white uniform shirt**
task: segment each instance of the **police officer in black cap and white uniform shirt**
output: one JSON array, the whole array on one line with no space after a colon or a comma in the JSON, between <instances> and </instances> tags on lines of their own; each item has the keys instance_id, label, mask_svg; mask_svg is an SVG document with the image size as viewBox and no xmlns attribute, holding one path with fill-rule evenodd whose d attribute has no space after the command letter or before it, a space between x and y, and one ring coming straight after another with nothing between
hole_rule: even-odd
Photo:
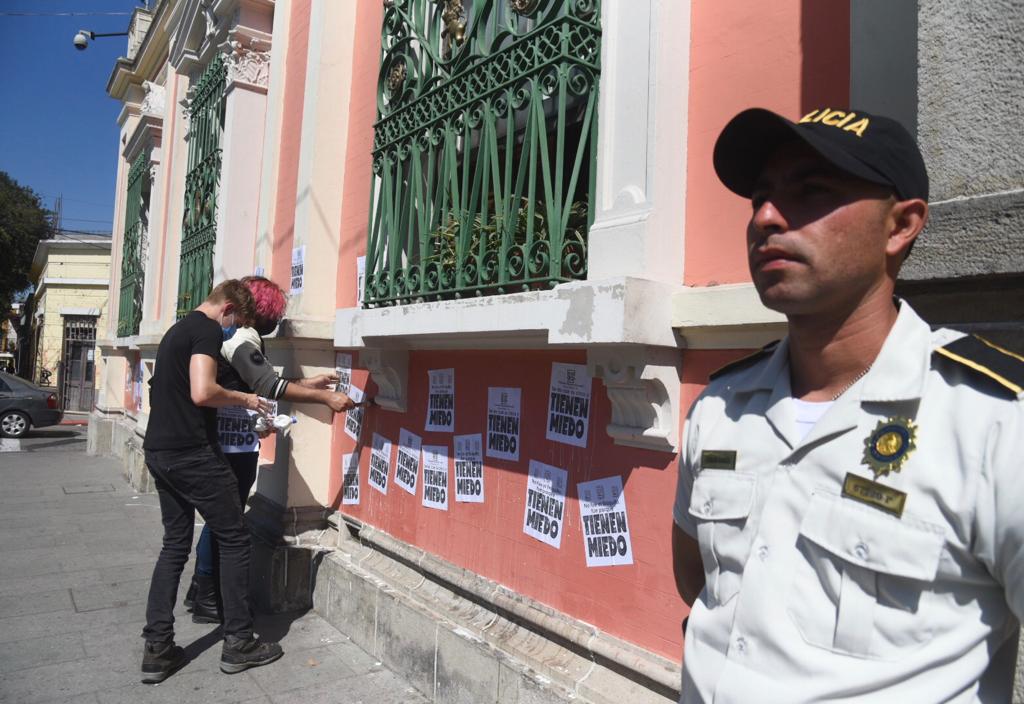
<instances>
[{"instance_id":1,"label":"police officer in black cap and white uniform shirt","mask_svg":"<svg viewBox=\"0 0 1024 704\"><path fill-rule=\"evenodd\" d=\"M893 298L928 217L916 144L860 111L749 109L714 160L788 335L712 375L687 420L681 701L1009 701L1024 358Z\"/></svg>"}]
</instances>

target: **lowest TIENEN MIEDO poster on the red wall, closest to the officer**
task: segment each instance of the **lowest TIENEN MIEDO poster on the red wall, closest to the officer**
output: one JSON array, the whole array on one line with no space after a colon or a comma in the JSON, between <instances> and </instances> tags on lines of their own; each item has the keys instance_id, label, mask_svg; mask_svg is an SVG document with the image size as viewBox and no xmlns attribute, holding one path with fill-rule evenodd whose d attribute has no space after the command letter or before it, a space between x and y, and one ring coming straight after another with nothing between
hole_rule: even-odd
<instances>
[{"instance_id":1,"label":"lowest TIENEN MIEDO poster on the red wall, closest to the officer","mask_svg":"<svg viewBox=\"0 0 1024 704\"><path fill-rule=\"evenodd\" d=\"M577 484L580 522L587 567L632 565L633 543L626 520L623 478L608 477Z\"/></svg>"}]
</instances>

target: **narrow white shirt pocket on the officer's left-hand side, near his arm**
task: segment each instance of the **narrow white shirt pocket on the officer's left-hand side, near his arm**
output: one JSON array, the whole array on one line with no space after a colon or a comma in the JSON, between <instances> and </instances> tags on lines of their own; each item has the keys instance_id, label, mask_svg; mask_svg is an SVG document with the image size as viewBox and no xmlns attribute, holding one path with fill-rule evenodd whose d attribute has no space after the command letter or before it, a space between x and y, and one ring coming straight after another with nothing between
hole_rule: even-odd
<instances>
[{"instance_id":1,"label":"narrow white shirt pocket on the officer's left-hand side, near his arm","mask_svg":"<svg viewBox=\"0 0 1024 704\"><path fill-rule=\"evenodd\" d=\"M709 608L739 591L751 552L746 522L754 505L754 475L705 470L693 481L689 513L697 523Z\"/></svg>"}]
</instances>

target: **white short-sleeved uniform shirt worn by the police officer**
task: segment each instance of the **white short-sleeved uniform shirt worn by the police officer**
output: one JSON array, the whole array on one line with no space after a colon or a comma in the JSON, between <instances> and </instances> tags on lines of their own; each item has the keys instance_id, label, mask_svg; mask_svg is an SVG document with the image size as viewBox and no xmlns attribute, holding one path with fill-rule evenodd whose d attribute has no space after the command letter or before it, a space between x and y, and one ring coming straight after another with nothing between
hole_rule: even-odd
<instances>
[{"instance_id":1,"label":"white short-sleeved uniform shirt worn by the police officer","mask_svg":"<svg viewBox=\"0 0 1024 704\"><path fill-rule=\"evenodd\" d=\"M869 371L803 439L786 341L709 384L675 504L707 578L680 701L1010 701L1024 404L945 352L962 338L902 303ZM867 445L892 419L902 464L871 485Z\"/></svg>"}]
</instances>

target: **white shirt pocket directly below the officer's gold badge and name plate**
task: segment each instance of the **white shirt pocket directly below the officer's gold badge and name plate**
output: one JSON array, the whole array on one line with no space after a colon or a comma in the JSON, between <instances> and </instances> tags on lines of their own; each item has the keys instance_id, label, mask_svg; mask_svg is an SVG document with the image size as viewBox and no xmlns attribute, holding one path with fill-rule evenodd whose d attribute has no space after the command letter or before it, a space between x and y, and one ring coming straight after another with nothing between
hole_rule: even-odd
<instances>
[{"instance_id":1,"label":"white shirt pocket directly below the officer's gold badge and name plate","mask_svg":"<svg viewBox=\"0 0 1024 704\"><path fill-rule=\"evenodd\" d=\"M815 493L800 526L788 614L834 653L895 659L925 644L941 526Z\"/></svg>"}]
</instances>

